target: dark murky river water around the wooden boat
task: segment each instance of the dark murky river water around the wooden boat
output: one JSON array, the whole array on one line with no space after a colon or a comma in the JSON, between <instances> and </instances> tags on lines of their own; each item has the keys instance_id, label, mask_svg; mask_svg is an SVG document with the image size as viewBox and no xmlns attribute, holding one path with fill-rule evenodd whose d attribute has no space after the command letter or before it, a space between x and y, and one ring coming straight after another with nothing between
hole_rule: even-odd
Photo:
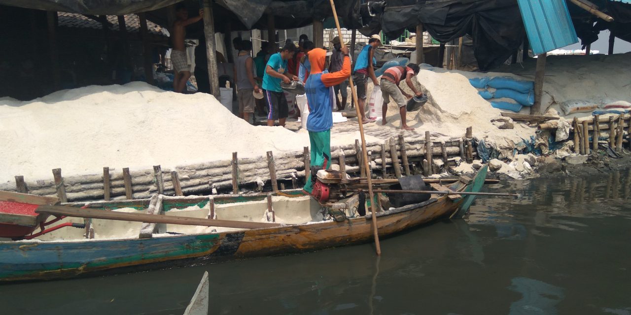
<instances>
[{"instance_id":1,"label":"dark murky river water around the wooden boat","mask_svg":"<svg viewBox=\"0 0 631 315\"><path fill-rule=\"evenodd\" d=\"M631 314L631 172L509 181L464 220L303 255L0 286L0 314Z\"/></svg>"}]
</instances>

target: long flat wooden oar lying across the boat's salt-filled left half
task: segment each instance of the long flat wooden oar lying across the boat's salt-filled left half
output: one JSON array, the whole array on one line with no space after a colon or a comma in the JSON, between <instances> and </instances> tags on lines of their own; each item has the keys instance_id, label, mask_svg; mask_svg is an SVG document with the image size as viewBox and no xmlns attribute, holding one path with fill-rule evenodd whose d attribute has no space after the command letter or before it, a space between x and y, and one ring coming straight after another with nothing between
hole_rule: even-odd
<instances>
[{"instance_id":1,"label":"long flat wooden oar lying across the boat's salt-filled left half","mask_svg":"<svg viewBox=\"0 0 631 315\"><path fill-rule=\"evenodd\" d=\"M133 214L108 210L78 209L62 205L40 205L35 210L38 214L65 215L66 217L83 217L118 221L134 221L147 223L181 224L186 226L218 226L238 229L259 229L261 227L278 227L282 224L265 222L244 222L230 220L201 219L195 217L177 217L162 214Z\"/></svg>"}]
</instances>

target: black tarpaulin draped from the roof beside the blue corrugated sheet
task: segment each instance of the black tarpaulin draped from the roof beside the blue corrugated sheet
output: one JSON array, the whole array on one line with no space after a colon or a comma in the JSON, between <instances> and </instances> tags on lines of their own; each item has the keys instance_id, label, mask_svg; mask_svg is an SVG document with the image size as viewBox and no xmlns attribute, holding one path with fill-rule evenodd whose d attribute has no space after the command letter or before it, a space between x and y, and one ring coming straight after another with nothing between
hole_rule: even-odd
<instances>
[{"instance_id":1,"label":"black tarpaulin draped from the roof beside the blue corrugated sheet","mask_svg":"<svg viewBox=\"0 0 631 315\"><path fill-rule=\"evenodd\" d=\"M442 43L471 35L482 71L504 63L524 38L515 0L387 1L381 26L388 37L398 37L405 28L412 30L420 23Z\"/></svg>"}]
</instances>

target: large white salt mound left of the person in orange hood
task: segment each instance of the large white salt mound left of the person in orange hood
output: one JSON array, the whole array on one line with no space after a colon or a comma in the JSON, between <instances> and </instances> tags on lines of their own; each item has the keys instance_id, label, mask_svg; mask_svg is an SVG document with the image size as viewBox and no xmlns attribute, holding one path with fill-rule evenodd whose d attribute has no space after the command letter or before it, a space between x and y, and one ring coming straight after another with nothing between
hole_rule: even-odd
<instances>
[{"instance_id":1,"label":"large white salt mound left of the person in orange hood","mask_svg":"<svg viewBox=\"0 0 631 315\"><path fill-rule=\"evenodd\" d=\"M235 117L211 95L181 95L145 83L88 86L33 101L0 99L0 182L23 175L34 181L121 169L163 168L266 151L302 151L306 133L255 127ZM334 135L333 146L358 134ZM376 140L370 138L367 140Z\"/></svg>"}]
</instances>

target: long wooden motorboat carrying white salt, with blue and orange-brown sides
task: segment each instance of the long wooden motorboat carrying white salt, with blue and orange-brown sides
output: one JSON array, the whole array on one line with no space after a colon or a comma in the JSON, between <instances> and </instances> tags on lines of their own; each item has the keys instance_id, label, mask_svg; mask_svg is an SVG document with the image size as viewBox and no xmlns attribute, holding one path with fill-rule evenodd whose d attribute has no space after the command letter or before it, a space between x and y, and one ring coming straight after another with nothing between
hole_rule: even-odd
<instances>
[{"instance_id":1,"label":"long wooden motorboat carrying white salt, with blue and orange-brown sides","mask_svg":"<svg viewBox=\"0 0 631 315\"><path fill-rule=\"evenodd\" d=\"M479 192L486 166L473 180L435 190ZM380 237L428 222L464 214L475 195L431 195L425 202L377 212ZM370 201L370 200L369 200ZM156 204L160 204L156 207ZM59 229L38 238L0 241L0 282L51 280L126 273L216 261L302 253L372 241L370 212L358 216L348 210L346 220L326 219L322 207L300 190L274 193L272 211L268 194L168 197L95 202L90 209L159 213L177 217L273 222L280 226L239 229L179 226L66 217L60 222L85 223L85 229ZM81 207L84 203L69 204ZM149 231L149 232L147 232ZM94 238L90 238L94 235ZM86 236L88 238L86 238Z\"/></svg>"}]
</instances>

